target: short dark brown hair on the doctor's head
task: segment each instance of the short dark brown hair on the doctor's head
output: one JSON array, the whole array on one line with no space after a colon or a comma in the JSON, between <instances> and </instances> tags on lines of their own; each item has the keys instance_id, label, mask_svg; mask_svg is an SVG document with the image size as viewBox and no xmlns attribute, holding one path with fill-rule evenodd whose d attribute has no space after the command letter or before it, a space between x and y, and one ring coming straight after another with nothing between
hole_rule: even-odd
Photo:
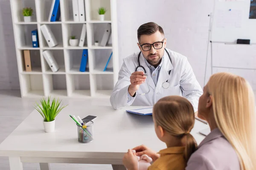
<instances>
[{"instance_id":1,"label":"short dark brown hair on the doctor's head","mask_svg":"<svg viewBox=\"0 0 256 170\"><path fill-rule=\"evenodd\" d=\"M141 25L137 30L138 40L140 41L140 36L142 36L142 35L151 35L157 31L159 31L161 34L164 34L163 28L161 26L157 25L156 23L153 23L153 22L145 23L145 24Z\"/></svg>"}]
</instances>

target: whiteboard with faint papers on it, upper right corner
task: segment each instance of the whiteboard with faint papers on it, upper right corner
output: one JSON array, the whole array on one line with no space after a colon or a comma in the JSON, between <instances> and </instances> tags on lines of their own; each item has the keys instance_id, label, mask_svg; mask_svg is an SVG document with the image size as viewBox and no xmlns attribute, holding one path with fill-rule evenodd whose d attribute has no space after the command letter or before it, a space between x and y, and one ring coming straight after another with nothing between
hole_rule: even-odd
<instances>
[{"instance_id":1,"label":"whiteboard with faint papers on it, upper right corner","mask_svg":"<svg viewBox=\"0 0 256 170\"><path fill-rule=\"evenodd\" d=\"M251 0L215 0L212 16L212 42L236 43L250 39L256 43L256 19L249 19Z\"/></svg>"}]
</instances>

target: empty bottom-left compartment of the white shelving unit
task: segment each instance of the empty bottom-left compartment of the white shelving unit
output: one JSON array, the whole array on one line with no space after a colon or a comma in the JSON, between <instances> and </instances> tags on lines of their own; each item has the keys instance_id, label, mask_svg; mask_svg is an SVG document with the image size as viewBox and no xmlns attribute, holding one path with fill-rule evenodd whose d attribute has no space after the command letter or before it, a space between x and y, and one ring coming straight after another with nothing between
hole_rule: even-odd
<instances>
[{"instance_id":1,"label":"empty bottom-left compartment of the white shelving unit","mask_svg":"<svg viewBox=\"0 0 256 170\"><path fill-rule=\"evenodd\" d=\"M44 96L44 86L42 75L22 74L21 79L21 94L25 97L40 97Z\"/></svg>"}]
</instances>

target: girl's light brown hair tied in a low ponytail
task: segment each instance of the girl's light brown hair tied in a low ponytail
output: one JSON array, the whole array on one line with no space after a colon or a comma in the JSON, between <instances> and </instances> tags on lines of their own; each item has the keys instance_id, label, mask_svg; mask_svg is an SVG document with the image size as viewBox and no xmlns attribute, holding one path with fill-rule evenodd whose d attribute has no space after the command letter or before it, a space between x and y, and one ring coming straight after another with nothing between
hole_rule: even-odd
<instances>
[{"instance_id":1,"label":"girl's light brown hair tied in a low ponytail","mask_svg":"<svg viewBox=\"0 0 256 170\"><path fill-rule=\"evenodd\" d=\"M184 159L189 160L197 149L197 143L190 134L195 123L195 113L191 103L181 96L167 96L158 100L153 108L153 116L157 126L177 138L186 136Z\"/></svg>"}]
</instances>

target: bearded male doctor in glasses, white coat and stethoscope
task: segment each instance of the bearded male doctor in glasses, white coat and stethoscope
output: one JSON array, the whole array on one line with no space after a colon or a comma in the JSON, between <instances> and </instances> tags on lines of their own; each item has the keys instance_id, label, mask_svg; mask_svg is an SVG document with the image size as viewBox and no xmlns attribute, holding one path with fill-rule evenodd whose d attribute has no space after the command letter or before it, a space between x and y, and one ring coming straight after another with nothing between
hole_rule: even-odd
<instances>
[{"instance_id":1,"label":"bearded male doctor in glasses, white coat and stethoscope","mask_svg":"<svg viewBox=\"0 0 256 170\"><path fill-rule=\"evenodd\" d=\"M137 30L137 37L140 52L123 59L110 97L112 107L153 106L164 96L179 95L197 112L202 88L187 58L166 48L163 28L145 23Z\"/></svg>"}]
</instances>

